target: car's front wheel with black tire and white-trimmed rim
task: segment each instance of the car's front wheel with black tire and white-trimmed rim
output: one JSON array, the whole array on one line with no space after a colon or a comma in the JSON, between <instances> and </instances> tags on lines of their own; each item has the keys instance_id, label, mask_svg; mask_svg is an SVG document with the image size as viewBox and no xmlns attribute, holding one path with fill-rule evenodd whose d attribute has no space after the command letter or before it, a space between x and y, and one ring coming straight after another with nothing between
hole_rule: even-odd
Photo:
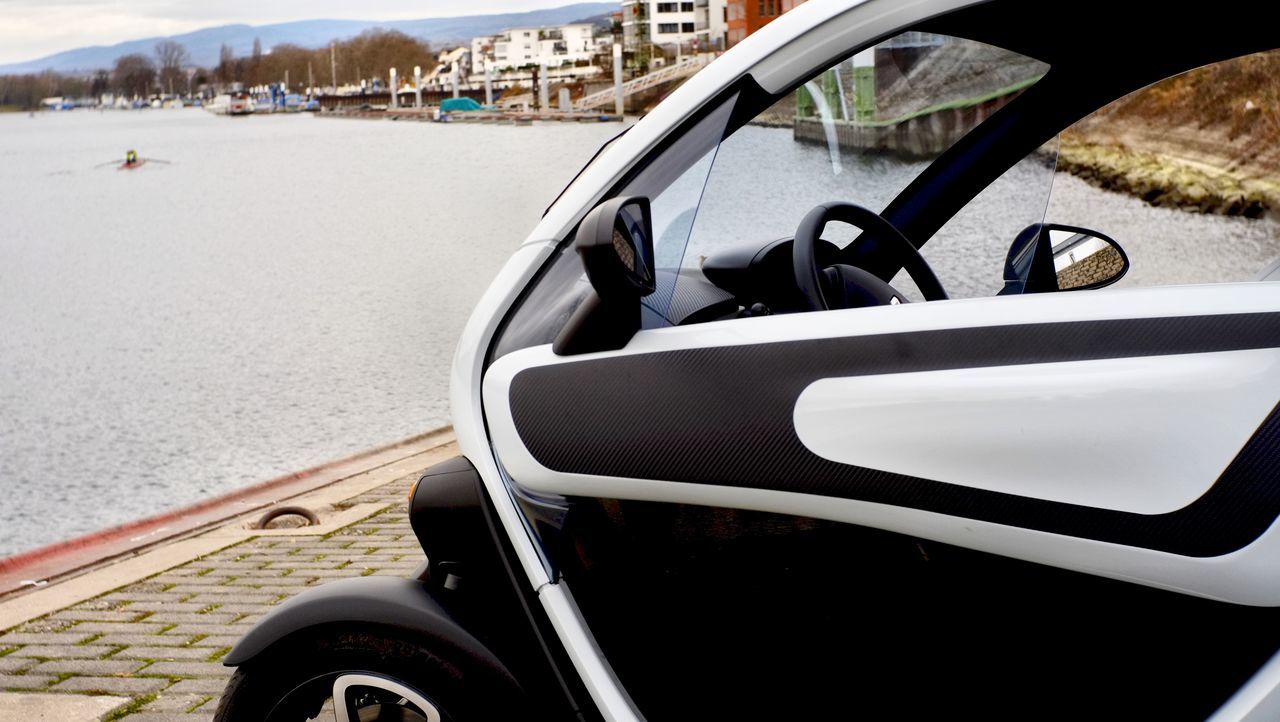
<instances>
[{"instance_id":1,"label":"car's front wheel with black tire and white-trimmed rim","mask_svg":"<svg viewBox=\"0 0 1280 722\"><path fill-rule=\"evenodd\" d=\"M520 698L509 680L465 670L408 635L319 632L238 667L214 721L471 722L521 714Z\"/></svg>"}]
</instances>

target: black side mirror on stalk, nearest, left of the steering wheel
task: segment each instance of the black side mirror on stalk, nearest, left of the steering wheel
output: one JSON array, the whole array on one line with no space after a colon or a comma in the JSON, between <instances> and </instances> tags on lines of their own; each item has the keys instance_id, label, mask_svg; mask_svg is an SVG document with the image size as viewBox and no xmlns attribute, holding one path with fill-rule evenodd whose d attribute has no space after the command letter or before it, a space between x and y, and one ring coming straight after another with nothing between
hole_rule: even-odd
<instances>
[{"instance_id":1,"label":"black side mirror on stalk, nearest, left of the steering wheel","mask_svg":"<svg viewBox=\"0 0 1280 722\"><path fill-rule=\"evenodd\" d=\"M622 348L640 330L640 300L655 288L649 198L600 204L579 224L573 248L594 292L573 311L552 351L571 356Z\"/></svg>"}]
</instances>

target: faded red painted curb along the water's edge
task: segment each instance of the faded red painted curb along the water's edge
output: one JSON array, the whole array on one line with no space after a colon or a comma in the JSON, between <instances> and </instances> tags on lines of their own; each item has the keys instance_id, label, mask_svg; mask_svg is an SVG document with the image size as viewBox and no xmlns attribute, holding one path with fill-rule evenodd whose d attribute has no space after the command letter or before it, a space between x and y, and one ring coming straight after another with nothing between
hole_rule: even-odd
<instances>
[{"instance_id":1,"label":"faded red painted curb along the water's edge","mask_svg":"<svg viewBox=\"0 0 1280 722\"><path fill-rule=\"evenodd\" d=\"M83 536L0 558L0 597L29 588L29 584L23 584L24 581L47 580L65 575L109 558L156 545L174 536L204 529L215 522L253 511L255 508L270 506L284 498L296 497L340 481L362 471L393 463L396 458L367 466L367 462L379 456L387 456L390 452L421 443L433 435L447 433L448 430L449 428L445 426L302 471L285 474L261 484L197 502L180 509L92 531ZM362 466L362 462L366 466ZM236 508L230 508L233 504Z\"/></svg>"}]
</instances>

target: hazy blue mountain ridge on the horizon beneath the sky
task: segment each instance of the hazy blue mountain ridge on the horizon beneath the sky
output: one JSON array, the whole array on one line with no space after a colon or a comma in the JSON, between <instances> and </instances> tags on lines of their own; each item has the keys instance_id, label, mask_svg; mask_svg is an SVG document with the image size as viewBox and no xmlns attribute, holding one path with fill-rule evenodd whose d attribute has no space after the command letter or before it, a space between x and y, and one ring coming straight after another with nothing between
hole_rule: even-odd
<instances>
[{"instance_id":1,"label":"hazy blue mountain ridge on the horizon beneath the sky","mask_svg":"<svg viewBox=\"0 0 1280 722\"><path fill-rule=\"evenodd\" d=\"M449 42L466 42L472 37L494 35L518 26L558 26L577 20L598 22L600 15L608 15L618 8L620 3L577 3L527 13L425 18L421 20L298 20L270 26L220 26L184 35L78 47L26 63L0 65L0 74L38 73L41 70L72 73L110 68L115 64L115 59L122 55L131 52L152 55L156 44L163 40L180 42L191 54L192 64L206 68L218 64L218 51L224 44L232 46L236 55L248 55L253 49L253 38L262 41L264 50L282 42L302 47L320 47L330 40L346 40L370 28L385 28L401 31L438 47Z\"/></svg>"}]
</instances>

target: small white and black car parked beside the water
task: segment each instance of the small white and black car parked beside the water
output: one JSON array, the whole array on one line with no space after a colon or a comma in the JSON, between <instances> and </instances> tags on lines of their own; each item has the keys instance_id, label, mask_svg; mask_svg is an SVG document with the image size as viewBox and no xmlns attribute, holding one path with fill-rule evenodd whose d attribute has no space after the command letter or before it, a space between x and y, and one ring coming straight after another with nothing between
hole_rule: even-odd
<instances>
[{"instance_id":1,"label":"small white and black car parked beside the water","mask_svg":"<svg viewBox=\"0 0 1280 722\"><path fill-rule=\"evenodd\" d=\"M1082 118L1276 37L1230 3L769 23L477 305L419 579L282 606L218 718L1280 719L1274 221L1142 241L1053 174Z\"/></svg>"}]
</instances>

